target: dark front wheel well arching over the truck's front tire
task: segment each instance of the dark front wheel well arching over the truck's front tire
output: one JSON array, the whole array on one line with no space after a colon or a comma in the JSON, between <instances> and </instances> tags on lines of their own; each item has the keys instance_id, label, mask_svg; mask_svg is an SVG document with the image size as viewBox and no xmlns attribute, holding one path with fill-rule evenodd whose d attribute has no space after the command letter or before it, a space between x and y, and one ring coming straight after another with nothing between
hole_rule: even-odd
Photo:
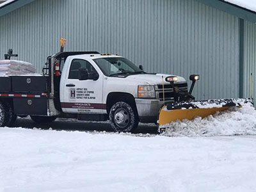
<instances>
[{"instance_id":1,"label":"dark front wheel well arching over the truck's front tire","mask_svg":"<svg viewBox=\"0 0 256 192\"><path fill-rule=\"evenodd\" d=\"M132 94L130 93L122 93L122 92L112 92L108 94L107 97L107 112L109 114L109 111L113 104L115 104L118 101L124 101L127 102L132 106L132 108L135 109L135 112L138 114L135 99Z\"/></svg>"}]
</instances>

